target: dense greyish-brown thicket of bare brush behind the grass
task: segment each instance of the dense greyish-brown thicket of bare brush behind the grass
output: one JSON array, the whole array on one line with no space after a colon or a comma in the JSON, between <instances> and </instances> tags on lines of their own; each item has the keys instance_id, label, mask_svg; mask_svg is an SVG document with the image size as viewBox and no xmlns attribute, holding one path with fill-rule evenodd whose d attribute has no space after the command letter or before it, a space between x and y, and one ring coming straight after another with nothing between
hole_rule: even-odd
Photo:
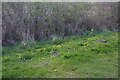
<instances>
[{"instance_id":1,"label":"dense greyish-brown thicket of bare brush behind the grass","mask_svg":"<svg viewBox=\"0 0 120 80\"><path fill-rule=\"evenodd\" d=\"M118 3L2 3L2 44L118 31Z\"/></svg>"}]
</instances>

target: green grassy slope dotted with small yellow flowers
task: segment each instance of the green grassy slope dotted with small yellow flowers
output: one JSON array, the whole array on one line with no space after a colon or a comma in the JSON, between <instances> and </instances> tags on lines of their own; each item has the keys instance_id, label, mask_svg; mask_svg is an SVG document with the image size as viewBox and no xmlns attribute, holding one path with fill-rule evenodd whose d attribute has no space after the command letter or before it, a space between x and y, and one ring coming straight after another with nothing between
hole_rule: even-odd
<instances>
[{"instance_id":1,"label":"green grassy slope dotted with small yellow flowers","mask_svg":"<svg viewBox=\"0 0 120 80\"><path fill-rule=\"evenodd\" d=\"M105 42L104 42L105 41ZM3 47L3 78L116 78L118 33Z\"/></svg>"}]
</instances>

